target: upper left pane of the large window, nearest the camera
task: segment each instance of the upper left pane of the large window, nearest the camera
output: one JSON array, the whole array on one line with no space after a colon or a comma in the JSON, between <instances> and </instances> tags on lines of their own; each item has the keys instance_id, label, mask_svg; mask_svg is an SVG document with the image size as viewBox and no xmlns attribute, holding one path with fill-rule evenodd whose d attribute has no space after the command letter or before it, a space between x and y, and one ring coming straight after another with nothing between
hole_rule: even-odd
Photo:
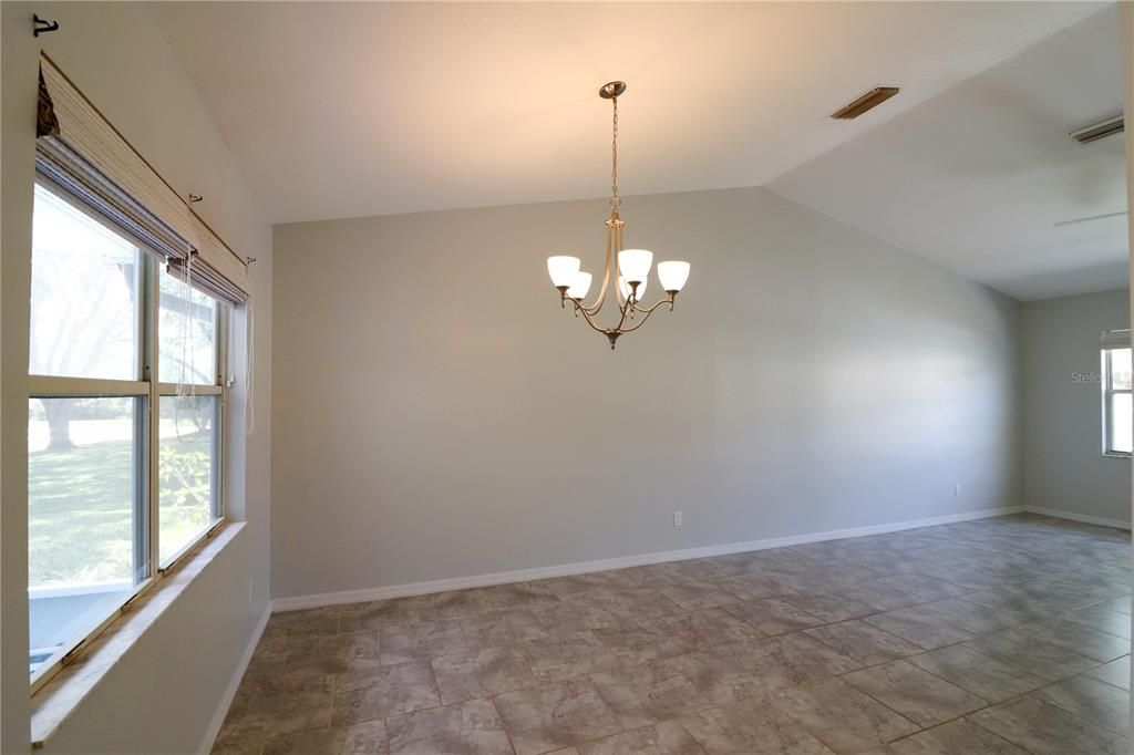
<instances>
[{"instance_id":1,"label":"upper left pane of the large window, nearest the camera","mask_svg":"<svg viewBox=\"0 0 1134 755\"><path fill-rule=\"evenodd\" d=\"M31 374L137 379L139 254L35 187Z\"/></svg>"}]
</instances>

